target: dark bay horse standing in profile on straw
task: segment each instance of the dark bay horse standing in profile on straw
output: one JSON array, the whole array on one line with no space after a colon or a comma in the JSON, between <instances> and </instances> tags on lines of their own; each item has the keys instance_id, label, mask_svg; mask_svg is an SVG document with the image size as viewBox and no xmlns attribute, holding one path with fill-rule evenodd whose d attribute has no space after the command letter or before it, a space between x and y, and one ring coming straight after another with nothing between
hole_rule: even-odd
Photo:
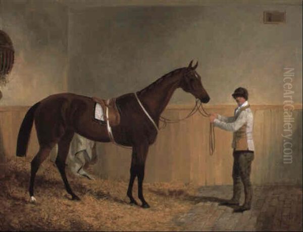
<instances>
[{"instance_id":1,"label":"dark bay horse standing in profile on straw","mask_svg":"<svg viewBox=\"0 0 303 232\"><path fill-rule=\"evenodd\" d=\"M142 190L145 160L148 147L156 140L160 115L174 91L182 88L203 103L210 100L201 83L201 77L195 71L197 66L198 63L192 67L191 61L188 67L176 69L136 93L128 93L116 98L121 121L118 126L112 127L112 134L116 143L132 147L127 190L130 204L137 205L132 196L133 183L137 177L141 207L149 208ZM59 93L35 103L25 114L18 134L16 155L26 155L33 122L35 122L39 142L39 151L31 161L29 184L31 202L36 201L34 198L36 172L56 144L58 144L58 155L55 163L66 191L71 195L72 200L80 200L72 191L65 172L65 161L74 133L93 141L111 141L107 127L92 120L93 107L94 101L91 97Z\"/></svg>"}]
</instances>

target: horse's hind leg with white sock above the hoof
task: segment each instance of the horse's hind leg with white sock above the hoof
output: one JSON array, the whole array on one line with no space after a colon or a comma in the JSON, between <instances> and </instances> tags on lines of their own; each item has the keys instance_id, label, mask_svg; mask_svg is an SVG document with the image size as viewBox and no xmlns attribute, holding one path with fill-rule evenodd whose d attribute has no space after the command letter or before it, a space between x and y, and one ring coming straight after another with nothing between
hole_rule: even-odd
<instances>
[{"instance_id":1,"label":"horse's hind leg with white sock above the hoof","mask_svg":"<svg viewBox=\"0 0 303 232\"><path fill-rule=\"evenodd\" d=\"M38 153L31 161L31 174L30 174L30 183L29 183L29 196L31 202L36 201L36 199L34 198L34 182L35 182L36 173L39 169L40 164L47 158L49 152L51 152L54 146L55 143L49 146L40 145L40 149Z\"/></svg>"}]
</instances>

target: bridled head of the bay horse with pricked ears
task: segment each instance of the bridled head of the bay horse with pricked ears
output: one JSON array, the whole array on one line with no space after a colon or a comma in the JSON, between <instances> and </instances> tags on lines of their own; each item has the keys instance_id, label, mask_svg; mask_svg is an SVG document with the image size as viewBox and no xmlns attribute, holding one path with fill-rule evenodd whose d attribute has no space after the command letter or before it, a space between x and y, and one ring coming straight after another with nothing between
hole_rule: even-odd
<instances>
[{"instance_id":1,"label":"bridled head of the bay horse with pricked ears","mask_svg":"<svg viewBox=\"0 0 303 232\"><path fill-rule=\"evenodd\" d=\"M198 98L201 102L207 103L210 101L210 96L204 89L201 83L200 75L195 71L198 66L198 62L194 67L191 66L192 61L188 67L184 69L180 87L188 93L191 93L195 98Z\"/></svg>"}]
</instances>

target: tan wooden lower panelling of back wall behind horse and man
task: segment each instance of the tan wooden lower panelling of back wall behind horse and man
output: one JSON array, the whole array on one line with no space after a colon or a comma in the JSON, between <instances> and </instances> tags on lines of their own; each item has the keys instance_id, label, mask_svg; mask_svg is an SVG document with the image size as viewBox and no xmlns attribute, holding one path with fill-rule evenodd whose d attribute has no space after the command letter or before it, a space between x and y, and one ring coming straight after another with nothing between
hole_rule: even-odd
<instances>
[{"instance_id":1,"label":"tan wooden lower panelling of back wall behind horse and man","mask_svg":"<svg viewBox=\"0 0 303 232\"><path fill-rule=\"evenodd\" d=\"M232 115L234 106L207 106L207 111ZM188 106L169 107L164 116L184 118ZM253 105L255 159L253 184L302 185L302 106L293 111L292 162L283 160L283 107ZM209 120L198 113L186 121L160 130L150 146L145 169L147 182L182 182L196 185L232 184L232 133L215 128L216 149L209 153ZM287 145L286 147L289 147ZM102 178L129 180L131 150L110 143L97 143L95 172Z\"/></svg>"}]
</instances>

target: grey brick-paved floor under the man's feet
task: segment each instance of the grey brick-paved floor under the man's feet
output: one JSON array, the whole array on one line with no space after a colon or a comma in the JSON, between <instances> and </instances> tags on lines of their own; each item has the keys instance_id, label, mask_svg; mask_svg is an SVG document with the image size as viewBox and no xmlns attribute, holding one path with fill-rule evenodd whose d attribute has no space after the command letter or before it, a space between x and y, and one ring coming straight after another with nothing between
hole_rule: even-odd
<instances>
[{"instance_id":1,"label":"grey brick-paved floor under the man's feet","mask_svg":"<svg viewBox=\"0 0 303 232\"><path fill-rule=\"evenodd\" d=\"M241 203L244 200L242 190ZM232 186L206 186L199 189L198 201L174 222L182 230L288 230L302 231L302 188L298 186L254 186L251 209L234 213L219 202L232 197Z\"/></svg>"}]
</instances>

